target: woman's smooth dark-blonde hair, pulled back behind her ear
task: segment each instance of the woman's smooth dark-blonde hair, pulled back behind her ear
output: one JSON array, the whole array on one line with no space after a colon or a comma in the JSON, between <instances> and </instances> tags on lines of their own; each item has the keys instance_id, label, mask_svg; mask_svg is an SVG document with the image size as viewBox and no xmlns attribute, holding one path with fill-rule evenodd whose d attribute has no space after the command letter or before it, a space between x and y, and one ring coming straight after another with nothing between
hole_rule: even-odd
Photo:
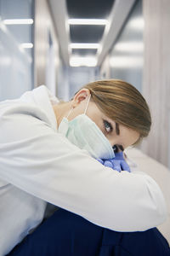
<instances>
[{"instance_id":1,"label":"woman's smooth dark-blonde hair, pulled back behind her ear","mask_svg":"<svg viewBox=\"0 0 170 256\"><path fill-rule=\"evenodd\" d=\"M95 81L82 88L90 90L94 103L106 116L118 124L138 131L139 141L148 136L151 125L150 109L139 90L132 84L110 79Z\"/></svg>"}]
</instances>

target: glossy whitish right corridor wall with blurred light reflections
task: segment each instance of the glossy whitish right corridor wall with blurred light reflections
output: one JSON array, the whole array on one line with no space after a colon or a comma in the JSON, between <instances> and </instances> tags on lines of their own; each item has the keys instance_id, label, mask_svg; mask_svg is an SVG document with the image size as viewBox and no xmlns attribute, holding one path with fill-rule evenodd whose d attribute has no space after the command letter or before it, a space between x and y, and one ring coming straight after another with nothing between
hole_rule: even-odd
<instances>
[{"instance_id":1,"label":"glossy whitish right corridor wall with blurred light reflections","mask_svg":"<svg viewBox=\"0 0 170 256\"><path fill-rule=\"evenodd\" d=\"M139 91L142 90L143 21L142 1L139 0L133 6L122 32L101 66L101 78L103 78L103 73L106 73L106 78L122 79L133 84Z\"/></svg>"}]
</instances>

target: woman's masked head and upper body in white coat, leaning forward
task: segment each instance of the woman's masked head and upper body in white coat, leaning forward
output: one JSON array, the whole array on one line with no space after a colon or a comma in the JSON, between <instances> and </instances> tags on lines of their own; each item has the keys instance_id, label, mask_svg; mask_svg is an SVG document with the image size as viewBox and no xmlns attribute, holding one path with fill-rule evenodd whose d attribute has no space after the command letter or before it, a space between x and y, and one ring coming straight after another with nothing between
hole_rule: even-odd
<instances>
[{"instance_id":1,"label":"woman's masked head and upper body in white coat, leaning forward","mask_svg":"<svg viewBox=\"0 0 170 256\"><path fill-rule=\"evenodd\" d=\"M99 163L150 131L147 103L131 84L96 81L62 103L42 85L1 102L0 117L1 256L42 222L47 202L116 231L166 219L151 177Z\"/></svg>"}]
</instances>

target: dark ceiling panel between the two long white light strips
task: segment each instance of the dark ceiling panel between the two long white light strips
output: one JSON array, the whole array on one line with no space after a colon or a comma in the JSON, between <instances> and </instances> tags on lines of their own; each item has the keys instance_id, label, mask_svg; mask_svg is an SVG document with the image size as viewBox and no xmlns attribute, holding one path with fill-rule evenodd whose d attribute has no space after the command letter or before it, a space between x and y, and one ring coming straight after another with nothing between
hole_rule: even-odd
<instances>
[{"instance_id":1,"label":"dark ceiling panel between the two long white light strips","mask_svg":"<svg viewBox=\"0 0 170 256\"><path fill-rule=\"evenodd\" d=\"M99 43L101 40L105 26L94 25L71 25L70 26L70 38L71 43Z\"/></svg>"}]
</instances>

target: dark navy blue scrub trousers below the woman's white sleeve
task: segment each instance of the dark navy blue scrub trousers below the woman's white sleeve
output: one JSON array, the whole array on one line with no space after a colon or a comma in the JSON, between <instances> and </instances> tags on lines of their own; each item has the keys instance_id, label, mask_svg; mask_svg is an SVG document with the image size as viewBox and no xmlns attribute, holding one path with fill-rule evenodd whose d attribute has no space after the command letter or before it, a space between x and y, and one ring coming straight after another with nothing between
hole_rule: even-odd
<instances>
[{"instance_id":1,"label":"dark navy blue scrub trousers below the woman's white sleeve","mask_svg":"<svg viewBox=\"0 0 170 256\"><path fill-rule=\"evenodd\" d=\"M8 256L170 256L156 229L116 232L59 209Z\"/></svg>"}]
</instances>

